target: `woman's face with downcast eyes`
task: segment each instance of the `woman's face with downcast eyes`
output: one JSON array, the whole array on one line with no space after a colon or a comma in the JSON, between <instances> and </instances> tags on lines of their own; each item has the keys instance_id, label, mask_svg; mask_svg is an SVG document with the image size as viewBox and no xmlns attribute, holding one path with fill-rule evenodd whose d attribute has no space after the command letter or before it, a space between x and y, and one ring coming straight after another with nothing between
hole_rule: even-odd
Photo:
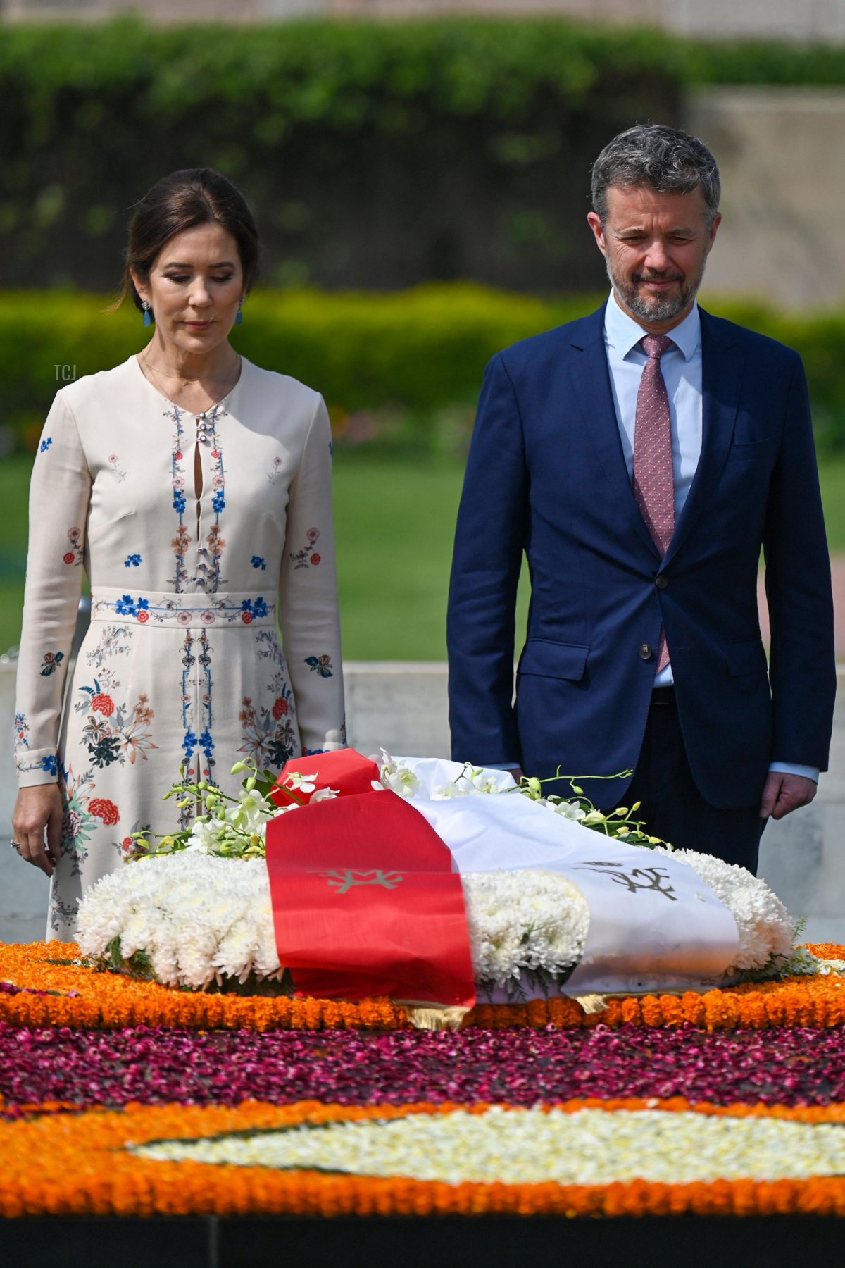
<instances>
[{"instance_id":1,"label":"woman's face with downcast eyes","mask_svg":"<svg viewBox=\"0 0 845 1268\"><path fill-rule=\"evenodd\" d=\"M176 233L156 256L149 278L132 271L147 299L156 330L181 353L213 351L227 337L243 298L238 245L220 224L196 224Z\"/></svg>"}]
</instances>

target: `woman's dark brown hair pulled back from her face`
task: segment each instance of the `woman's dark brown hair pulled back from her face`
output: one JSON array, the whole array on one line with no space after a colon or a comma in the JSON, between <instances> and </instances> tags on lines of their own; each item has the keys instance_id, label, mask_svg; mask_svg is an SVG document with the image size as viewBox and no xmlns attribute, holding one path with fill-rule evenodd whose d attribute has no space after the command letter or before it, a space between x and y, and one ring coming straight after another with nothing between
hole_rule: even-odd
<instances>
[{"instance_id":1,"label":"woman's dark brown hair pulled back from her face","mask_svg":"<svg viewBox=\"0 0 845 1268\"><path fill-rule=\"evenodd\" d=\"M255 281L258 268L258 232L243 194L213 167L185 167L152 186L136 207L124 251L125 270L120 303L129 295L141 308L130 269L144 281L162 247L196 224L219 224L238 245L243 269L243 293Z\"/></svg>"}]
</instances>

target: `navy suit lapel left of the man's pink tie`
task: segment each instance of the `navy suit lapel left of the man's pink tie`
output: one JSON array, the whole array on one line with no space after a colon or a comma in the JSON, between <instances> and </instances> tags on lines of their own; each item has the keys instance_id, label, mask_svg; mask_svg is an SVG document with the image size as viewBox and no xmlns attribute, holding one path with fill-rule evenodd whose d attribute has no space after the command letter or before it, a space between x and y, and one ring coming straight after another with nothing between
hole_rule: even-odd
<instances>
[{"instance_id":1,"label":"navy suit lapel left of the man's pink tie","mask_svg":"<svg viewBox=\"0 0 845 1268\"><path fill-rule=\"evenodd\" d=\"M625 463L611 372L604 347L604 307L584 318L571 337L570 377L587 432L609 484L611 506L618 507L631 527L659 559L660 553L640 515Z\"/></svg>"}]
</instances>

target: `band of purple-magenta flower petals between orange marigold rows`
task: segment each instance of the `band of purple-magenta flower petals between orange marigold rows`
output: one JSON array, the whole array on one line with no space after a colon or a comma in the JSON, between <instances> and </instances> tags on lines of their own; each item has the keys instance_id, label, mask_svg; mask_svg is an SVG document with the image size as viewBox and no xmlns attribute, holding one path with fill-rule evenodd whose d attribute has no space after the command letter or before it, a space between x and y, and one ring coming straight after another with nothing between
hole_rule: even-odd
<instances>
[{"instance_id":1,"label":"band of purple-magenta flower petals between orange marigold rows","mask_svg":"<svg viewBox=\"0 0 845 1268\"><path fill-rule=\"evenodd\" d=\"M125 1104L317 1098L556 1102L570 1097L827 1104L845 1101L845 1031L76 1031L0 1023L0 1096Z\"/></svg>"}]
</instances>

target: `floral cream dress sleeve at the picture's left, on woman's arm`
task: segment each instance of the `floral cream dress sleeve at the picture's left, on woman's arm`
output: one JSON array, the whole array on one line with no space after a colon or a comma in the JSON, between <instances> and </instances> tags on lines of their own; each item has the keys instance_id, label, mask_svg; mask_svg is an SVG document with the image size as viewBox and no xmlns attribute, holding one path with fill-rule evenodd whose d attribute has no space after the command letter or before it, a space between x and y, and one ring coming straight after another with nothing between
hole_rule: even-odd
<instances>
[{"instance_id":1,"label":"floral cream dress sleeve at the picture's left, on woman's arm","mask_svg":"<svg viewBox=\"0 0 845 1268\"><path fill-rule=\"evenodd\" d=\"M62 694L82 585L91 477L76 420L58 392L29 489L29 552L15 704L22 787L54 784Z\"/></svg>"}]
</instances>

